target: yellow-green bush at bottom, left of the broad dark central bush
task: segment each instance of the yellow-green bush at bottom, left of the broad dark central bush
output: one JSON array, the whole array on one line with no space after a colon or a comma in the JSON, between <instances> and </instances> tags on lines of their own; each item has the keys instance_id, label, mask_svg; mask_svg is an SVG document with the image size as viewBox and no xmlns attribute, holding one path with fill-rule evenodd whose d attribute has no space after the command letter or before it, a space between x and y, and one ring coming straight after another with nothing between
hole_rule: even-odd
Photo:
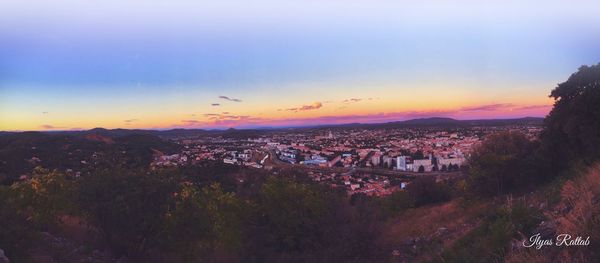
<instances>
[{"instance_id":1,"label":"yellow-green bush at bottom, left of the broad dark central bush","mask_svg":"<svg viewBox=\"0 0 600 263\"><path fill-rule=\"evenodd\" d=\"M241 242L242 202L218 183L202 189L185 183L174 194L175 204L166 218L168 247L183 262L214 257L220 248L235 256ZM220 258L224 260L223 256ZM216 260L216 259L213 259ZM211 261L211 260L208 260Z\"/></svg>"}]
</instances>

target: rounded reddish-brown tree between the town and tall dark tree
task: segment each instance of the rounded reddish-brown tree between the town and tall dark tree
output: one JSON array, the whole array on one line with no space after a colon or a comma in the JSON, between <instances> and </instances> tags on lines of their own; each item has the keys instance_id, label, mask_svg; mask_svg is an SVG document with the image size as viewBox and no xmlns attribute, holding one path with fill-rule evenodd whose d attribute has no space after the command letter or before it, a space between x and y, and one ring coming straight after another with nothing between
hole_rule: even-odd
<instances>
[{"instance_id":1,"label":"rounded reddish-brown tree between the town and tall dark tree","mask_svg":"<svg viewBox=\"0 0 600 263\"><path fill-rule=\"evenodd\" d=\"M476 146L469 158L472 189L481 195L504 194L534 180L535 142L520 132L499 132Z\"/></svg>"}]
</instances>

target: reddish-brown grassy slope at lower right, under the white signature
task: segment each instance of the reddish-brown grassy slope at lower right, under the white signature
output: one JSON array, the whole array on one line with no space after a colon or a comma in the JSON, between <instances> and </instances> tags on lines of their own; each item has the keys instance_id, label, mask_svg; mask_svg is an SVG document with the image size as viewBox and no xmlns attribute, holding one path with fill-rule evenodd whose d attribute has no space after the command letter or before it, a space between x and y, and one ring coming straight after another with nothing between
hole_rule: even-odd
<instances>
[{"instance_id":1,"label":"reddish-brown grassy slope at lower right, under the white signature","mask_svg":"<svg viewBox=\"0 0 600 263\"><path fill-rule=\"evenodd\" d=\"M392 262L597 262L599 219L600 164L523 195L409 209L386 224L380 240ZM536 234L554 245L527 247ZM560 234L591 242L557 246Z\"/></svg>"}]
</instances>

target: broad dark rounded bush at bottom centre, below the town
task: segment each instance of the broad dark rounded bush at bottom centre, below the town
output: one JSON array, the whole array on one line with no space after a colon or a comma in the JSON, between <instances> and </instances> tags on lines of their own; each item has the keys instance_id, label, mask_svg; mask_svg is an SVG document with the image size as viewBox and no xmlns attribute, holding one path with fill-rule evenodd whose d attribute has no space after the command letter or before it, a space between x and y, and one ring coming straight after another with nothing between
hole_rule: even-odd
<instances>
[{"instance_id":1,"label":"broad dark rounded bush at bottom centre, below the town","mask_svg":"<svg viewBox=\"0 0 600 263\"><path fill-rule=\"evenodd\" d=\"M270 177L245 221L242 257L246 262L364 262L378 250L373 208L350 206L343 191L287 175Z\"/></svg>"}]
</instances>

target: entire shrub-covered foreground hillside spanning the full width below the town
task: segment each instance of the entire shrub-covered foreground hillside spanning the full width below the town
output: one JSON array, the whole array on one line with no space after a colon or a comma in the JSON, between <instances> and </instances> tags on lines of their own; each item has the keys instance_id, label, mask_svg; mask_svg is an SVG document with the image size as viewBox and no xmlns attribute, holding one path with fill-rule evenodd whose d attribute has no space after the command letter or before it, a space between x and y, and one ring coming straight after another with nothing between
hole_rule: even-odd
<instances>
[{"instance_id":1,"label":"entire shrub-covered foreground hillside spanning the full width below the town","mask_svg":"<svg viewBox=\"0 0 600 263\"><path fill-rule=\"evenodd\" d=\"M596 242L523 245L537 233L600 238L600 164L530 193L405 207L396 206L398 196L347 203L302 178L215 168L209 169L222 179L96 174L69 182L45 174L2 188L1 249L14 262L336 262L327 254L340 250L344 262L595 262L600 256ZM244 180L225 179L231 176ZM199 188L190 180L221 183Z\"/></svg>"}]
</instances>

